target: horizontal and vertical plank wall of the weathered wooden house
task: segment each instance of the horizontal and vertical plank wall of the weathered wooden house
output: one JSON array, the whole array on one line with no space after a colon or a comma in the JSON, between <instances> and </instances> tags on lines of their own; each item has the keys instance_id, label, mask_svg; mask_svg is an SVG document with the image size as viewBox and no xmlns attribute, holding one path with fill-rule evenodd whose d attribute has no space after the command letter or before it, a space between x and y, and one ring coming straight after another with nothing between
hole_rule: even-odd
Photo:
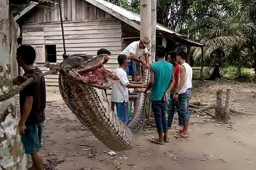
<instances>
[{"instance_id":1,"label":"horizontal and vertical plank wall of the weathered wooden house","mask_svg":"<svg viewBox=\"0 0 256 170\"><path fill-rule=\"evenodd\" d=\"M83 0L72 1L63 0L64 6L66 6L63 9L66 52L95 56L97 49L106 48L112 55L105 68L113 71L118 66L117 55L120 53L122 45L121 21ZM56 4L51 4L51 6L56 7ZM35 65L43 72L48 71L48 68L43 66L45 63L45 45L55 44L57 62L63 61L61 27L58 21L59 16L55 12L59 11L57 9L38 8L22 25L22 43L32 45L35 48L37 54ZM69 21L71 19L75 20ZM57 75L46 76L46 85L57 86L57 77Z\"/></svg>"}]
</instances>

